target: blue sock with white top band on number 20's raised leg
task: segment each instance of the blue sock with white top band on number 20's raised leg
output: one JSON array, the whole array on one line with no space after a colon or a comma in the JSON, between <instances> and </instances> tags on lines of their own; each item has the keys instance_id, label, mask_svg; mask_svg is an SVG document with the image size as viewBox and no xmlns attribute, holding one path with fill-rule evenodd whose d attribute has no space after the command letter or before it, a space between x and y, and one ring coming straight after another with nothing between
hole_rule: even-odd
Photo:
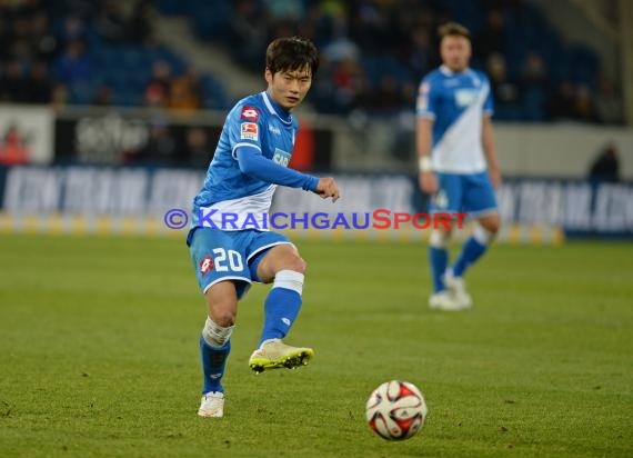
<instances>
[{"instance_id":1,"label":"blue sock with white top band on number 20's raised leg","mask_svg":"<svg viewBox=\"0 0 633 458\"><path fill-rule=\"evenodd\" d=\"M292 327L301 309L303 278L303 273L293 270L281 270L274 277L264 302L264 325L258 347L264 340L283 339Z\"/></svg>"}]
</instances>

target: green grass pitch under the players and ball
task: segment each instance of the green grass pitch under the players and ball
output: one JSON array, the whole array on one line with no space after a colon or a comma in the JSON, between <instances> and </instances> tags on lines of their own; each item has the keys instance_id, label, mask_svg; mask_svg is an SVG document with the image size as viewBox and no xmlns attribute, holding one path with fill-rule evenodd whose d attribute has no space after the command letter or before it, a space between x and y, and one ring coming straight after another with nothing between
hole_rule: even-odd
<instances>
[{"instance_id":1,"label":"green grass pitch under the players and ball","mask_svg":"<svg viewBox=\"0 0 633 458\"><path fill-rule=\"evenodd\" d=\"M496 246L459 313L426 307L423 245L298 245L287 341L316 357L251 372L255 286L218 420L195 415L205 309L182 240L0 236L0 457L633 456L631 245ZM429 405L403 442L364 420L390 379Z\"/></svg>"}]
</instances>

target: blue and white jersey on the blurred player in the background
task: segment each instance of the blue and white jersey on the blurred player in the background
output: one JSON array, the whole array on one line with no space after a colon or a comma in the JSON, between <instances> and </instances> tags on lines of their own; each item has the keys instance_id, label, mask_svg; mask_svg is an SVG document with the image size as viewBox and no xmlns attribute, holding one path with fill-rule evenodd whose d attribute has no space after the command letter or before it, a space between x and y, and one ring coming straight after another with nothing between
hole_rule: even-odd
<instances>
[{"instance_id":1,"label":"blue and white jersey on the blurred player in the background","mask_svg":"<svg viewBox=\"0 0 633 458\"><path fill-rule=\"evenodd\" d=\"M488 77L472 69L455 73L445 66L429 73L418 91L416 114L433 119L433 170L479 173L486 169L482 118L492 116Z\"/></svg>"}]
</instances>

